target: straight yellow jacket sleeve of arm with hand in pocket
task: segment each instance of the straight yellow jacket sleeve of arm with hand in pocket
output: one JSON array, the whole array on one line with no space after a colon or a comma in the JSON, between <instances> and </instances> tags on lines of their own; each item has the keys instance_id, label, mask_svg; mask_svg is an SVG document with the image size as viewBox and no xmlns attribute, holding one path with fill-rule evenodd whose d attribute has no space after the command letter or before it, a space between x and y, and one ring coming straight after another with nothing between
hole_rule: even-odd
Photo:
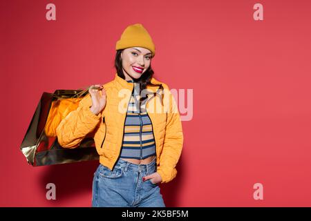
<instances>
[{"instance_id":1,"label":"straight yellow jacket sleeve of arm with hand in pocket","mask_svg":"<svg viewBox=\"0 0 311 221\"><path fill-rule=\"evenodd\" d=\"M178 106L169 89L167 89L167 94L169 95L169 111L167 111L167 125L160 164L157 168L157 172L162 177L161 183L170 182L176 177L176 164L180 158L184 141Z\"/></svg>"}]
</instances>

